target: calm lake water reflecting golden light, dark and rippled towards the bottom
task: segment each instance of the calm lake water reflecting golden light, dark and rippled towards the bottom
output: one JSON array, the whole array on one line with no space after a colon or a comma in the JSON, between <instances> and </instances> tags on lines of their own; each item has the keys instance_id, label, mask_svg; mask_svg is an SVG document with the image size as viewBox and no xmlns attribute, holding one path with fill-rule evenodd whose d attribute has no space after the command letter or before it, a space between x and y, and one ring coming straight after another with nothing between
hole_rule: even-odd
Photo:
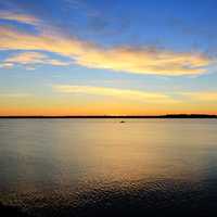
<instances>
[{"instance_id":1,"label":"calm lake water reflecting golden light, dark and rippled towards the bottom","mask_svg":"<svg viewBox=\"0 0 217 217\"><path fill-rule=\"evenodd\" d=\"M0 119L0 203L35 216L217 209L216 119L119 122Z\"/></svg>"}]
</instances>

